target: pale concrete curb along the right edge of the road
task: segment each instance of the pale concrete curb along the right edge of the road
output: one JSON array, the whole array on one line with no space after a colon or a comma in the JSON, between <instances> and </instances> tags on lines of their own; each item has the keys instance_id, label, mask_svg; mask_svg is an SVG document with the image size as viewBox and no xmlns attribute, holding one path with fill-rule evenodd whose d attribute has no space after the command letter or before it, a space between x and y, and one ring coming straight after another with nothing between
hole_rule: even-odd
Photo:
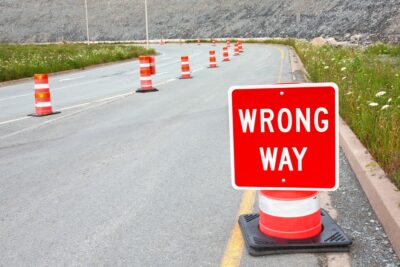
<instances>
[{"instance_id":1,"label":"pale concrete curb along the right edge of the road","mask_svg":"<svg viewBox=\"0 0 400 267\"><path fill-rule=\"evenodd\" d=\"M308 75L299 56L292 47L289 47L289 52L293 79L306 81ZM400 257L400 191L342 118L339 119L339 142L394 251Z\"/></svg>"}]
</instances>

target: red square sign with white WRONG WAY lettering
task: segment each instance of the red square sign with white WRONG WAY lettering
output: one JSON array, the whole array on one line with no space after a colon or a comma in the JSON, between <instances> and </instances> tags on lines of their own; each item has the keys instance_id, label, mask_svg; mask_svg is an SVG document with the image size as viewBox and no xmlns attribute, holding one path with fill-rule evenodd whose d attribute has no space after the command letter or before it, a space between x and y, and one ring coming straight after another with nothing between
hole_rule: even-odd
<instances>
[{"instance_id":1,"label":"red square sign with white WRONG WAY lettering","mask_svg":"<svg viewBox=\"0 0 400 267\"><path fill-rule=\"evenodd\" d=\"M336 84L231 87L229 123L235 189L338 187Z\"/></svg>"}]
</instances>

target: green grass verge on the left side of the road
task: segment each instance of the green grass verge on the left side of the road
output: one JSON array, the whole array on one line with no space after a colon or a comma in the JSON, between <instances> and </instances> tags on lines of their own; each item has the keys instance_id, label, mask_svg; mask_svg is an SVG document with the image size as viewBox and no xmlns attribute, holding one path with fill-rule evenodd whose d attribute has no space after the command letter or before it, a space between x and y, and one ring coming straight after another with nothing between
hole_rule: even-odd
<instances>
[{"instance_id":1,"label":"green grass verge on the left side of the road","mask_svg":"<svg viewBox=\"0 0 400 267\"><path fill-rule=\"evenodd\" d=\"M0 81L84 68L90 65L155 54L141 46L115 44L0 44Z\"/></svg>"}]
</instances>

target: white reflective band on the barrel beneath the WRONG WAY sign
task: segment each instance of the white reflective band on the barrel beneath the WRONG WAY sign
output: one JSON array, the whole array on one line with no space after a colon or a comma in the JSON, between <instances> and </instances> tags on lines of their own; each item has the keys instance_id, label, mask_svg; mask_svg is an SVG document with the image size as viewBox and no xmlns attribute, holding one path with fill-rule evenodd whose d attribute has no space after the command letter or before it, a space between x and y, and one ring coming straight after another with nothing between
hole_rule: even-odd
<instances>
[{"instance_id":1,"label":"white reflective band on the barrel beneath the WRONG WAY sign","mask_svg":"<svg viewBox=\"0 0 400 267\"><path fill-rule=\"evenodd\" d=\"M319 195L301 200L276 200L259 196L260 210L268 215L284 218L301 217L313 214L320 209Z\"/></svg>"}]
</instances>

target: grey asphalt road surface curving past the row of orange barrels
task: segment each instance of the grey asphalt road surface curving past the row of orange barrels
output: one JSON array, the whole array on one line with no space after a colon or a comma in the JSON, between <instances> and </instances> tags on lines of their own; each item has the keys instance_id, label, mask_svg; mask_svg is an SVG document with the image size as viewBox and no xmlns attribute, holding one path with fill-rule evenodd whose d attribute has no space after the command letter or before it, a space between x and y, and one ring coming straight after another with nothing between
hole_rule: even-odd
<instances>
[{"instance_id":1,"label":"grey asphalt road surface curving past the row of orange barrels","mask_svg":"<svg viewBox=\"0 0 400 267\"><path fill-rule=\"evenodd\" d=\"M155 93L134 93L137 61L51 77L62 113L48 117L26 116L31 81L0 87L0 266L219 266L230 256L243 194L229 176L227 90L292 81L287 50L245 45L220 62L221 45L155 48ZM219 68L208 69L213 48ZM193 79L177 79L181 55ZM246 253L242 266L324 264Z\"/></svg>"}]
</instances>

